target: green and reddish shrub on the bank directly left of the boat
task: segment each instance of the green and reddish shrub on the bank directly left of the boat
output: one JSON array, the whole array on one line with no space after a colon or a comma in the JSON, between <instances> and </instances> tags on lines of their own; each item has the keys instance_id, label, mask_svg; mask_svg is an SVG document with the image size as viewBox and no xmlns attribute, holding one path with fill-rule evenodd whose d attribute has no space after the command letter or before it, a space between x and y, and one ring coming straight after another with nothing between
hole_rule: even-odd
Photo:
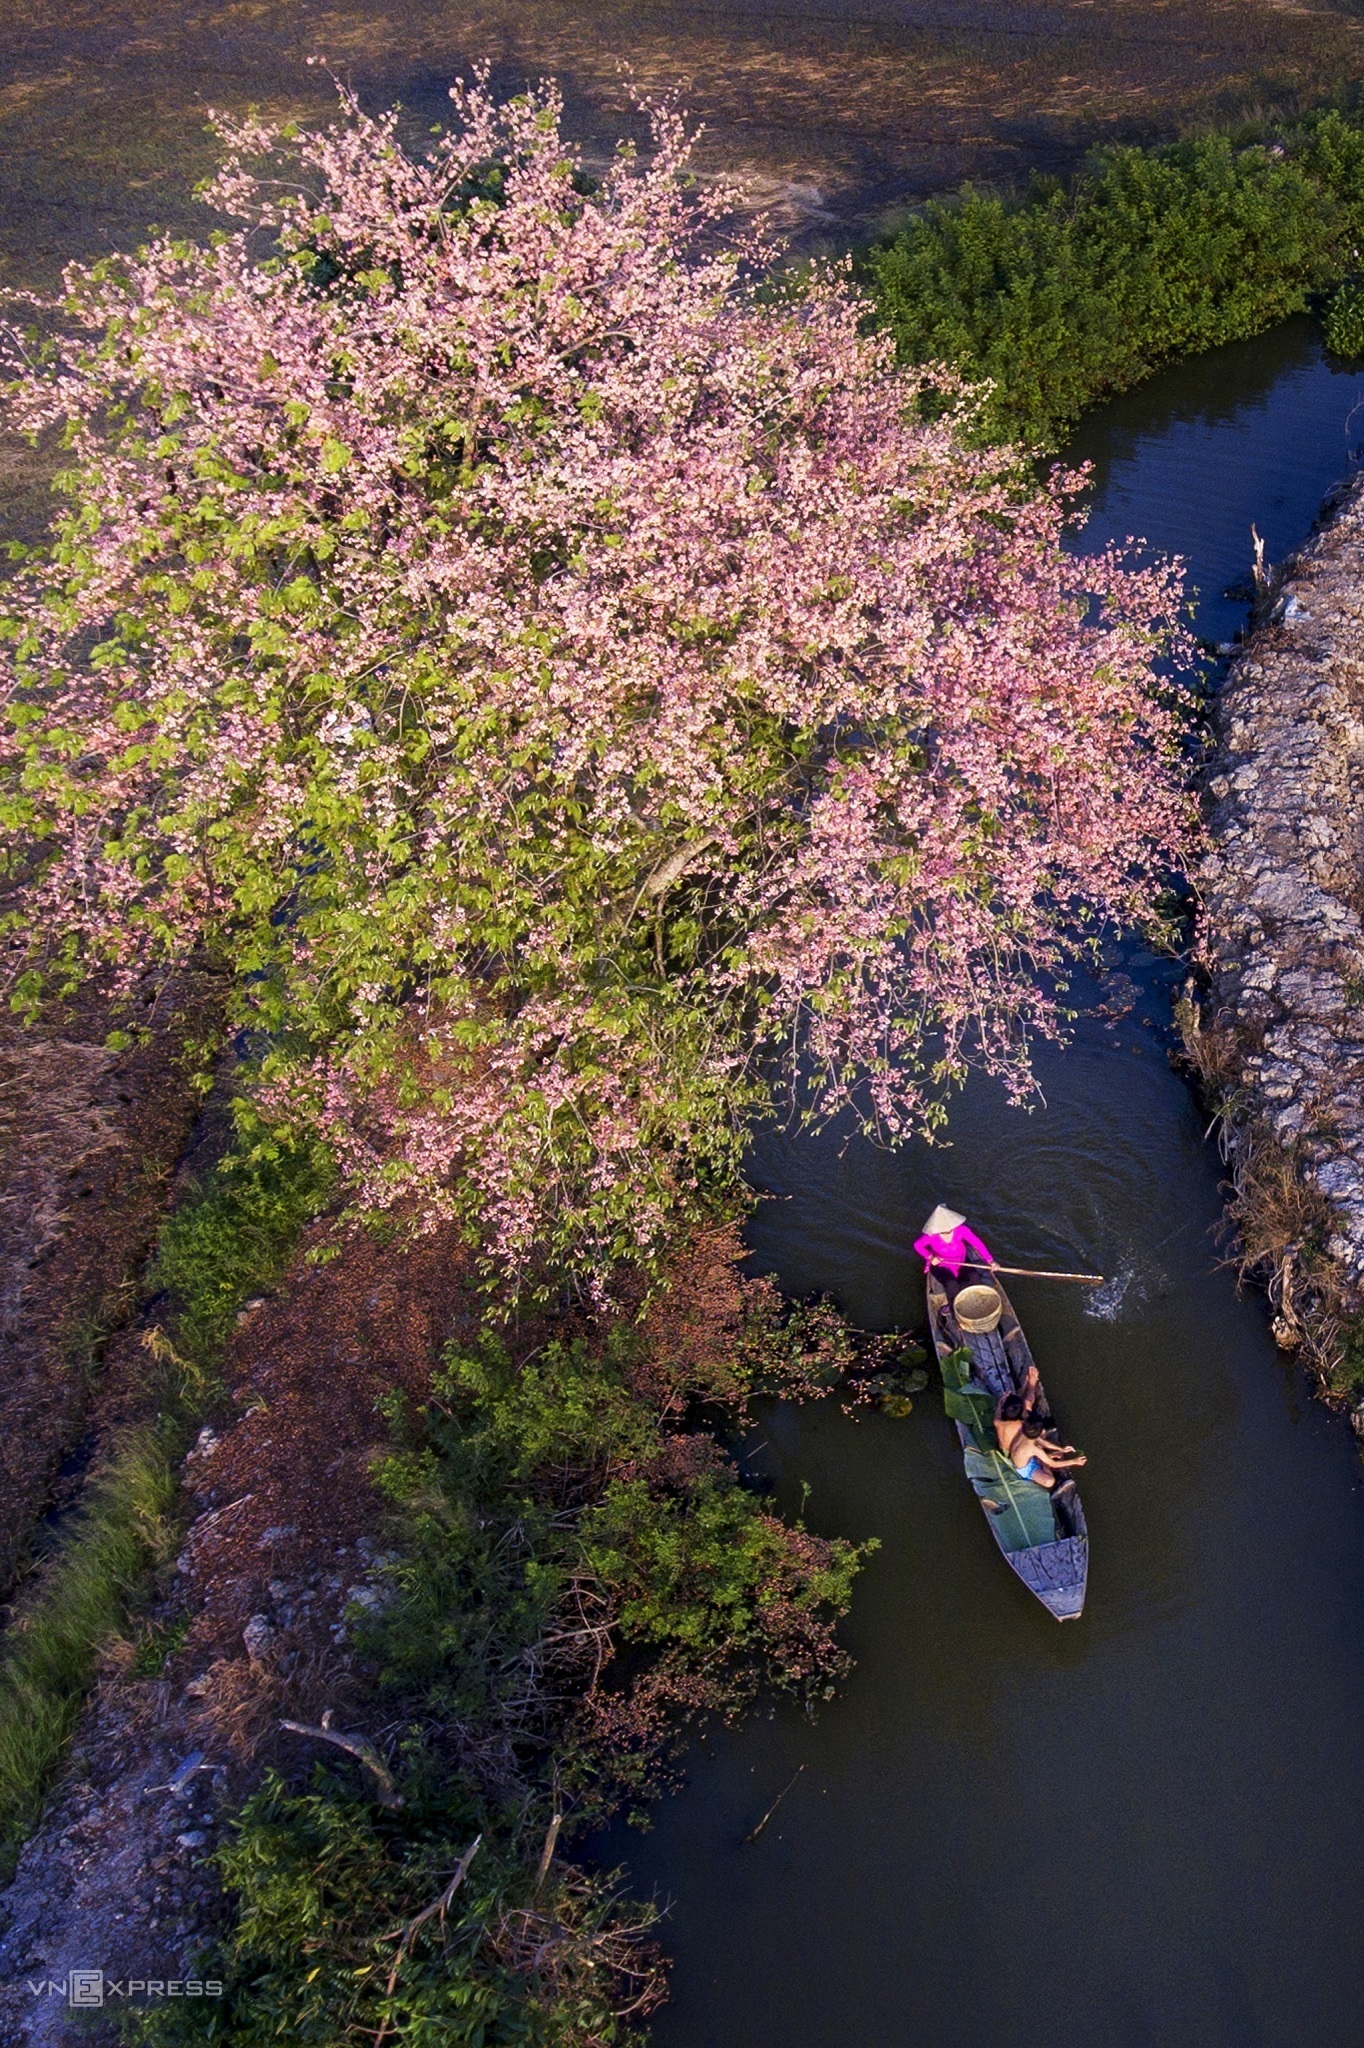
<instances>
[{"instance_id":1,"label":"green and reddish shrub on the bank directly left of the boat","mask_svg":"<svg viewBox=\"0 0 1364 2048\"><path fill-rule=\"evenodd\" d=\"M600 1702L573 1708L563 1774L584 1810L651 1784L666 1714L733 1714L762 1686L825 1694L862 1559L764 1511L713 1438L664 1427L631 1391L635 1362L629 1329L528 1362L492 1335L451 1350L418 1434L379 1470L403 1518L381 1634L389 1690L440 1722L535 1718L524 1659L565 1606L578 1638L600 1640L565 1700L612 1649L647 1661L604 1718Z\"/></svg>"}]
</instances>

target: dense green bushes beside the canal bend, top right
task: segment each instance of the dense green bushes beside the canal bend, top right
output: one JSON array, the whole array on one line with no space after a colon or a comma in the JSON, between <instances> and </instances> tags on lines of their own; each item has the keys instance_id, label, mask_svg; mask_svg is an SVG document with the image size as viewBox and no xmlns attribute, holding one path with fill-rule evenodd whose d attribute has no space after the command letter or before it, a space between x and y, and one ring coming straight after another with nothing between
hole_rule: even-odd
<instances>
[{"instance_id":1,"label":"dense green bushes beside the canal bend, top right","mask_svg":"<svg viewBox=\"0 0 1364 2048\"><path fill-rule=\"evenodd\" d=\"M1171 356L1258 334L1362 266L1364 125L1335 111L1270 141L1106 150L1018 199L932 201L866 264L901 360L991 379L987 432L1042 446Z\"/></svg>"}]
</instances>

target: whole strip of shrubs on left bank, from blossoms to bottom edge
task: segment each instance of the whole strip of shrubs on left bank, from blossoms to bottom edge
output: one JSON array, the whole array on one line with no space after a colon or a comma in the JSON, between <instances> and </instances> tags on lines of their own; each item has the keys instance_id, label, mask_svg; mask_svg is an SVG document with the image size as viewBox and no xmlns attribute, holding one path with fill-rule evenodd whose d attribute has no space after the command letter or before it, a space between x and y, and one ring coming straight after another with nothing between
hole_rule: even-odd
<instances>
[{"instance_id":1,"label":"whole strip of shrubs on left bank, from blossoms to bottom edge","mask_svg":"<svg viewBox=\"0 0 1364 2048\"><path fill-rule=\"evenodd\" d=\"M698 1270L725 1296L705 1337L678 1343L670 1296L530 1356L489 1331L420 1413L393 1403L387 1606L363 1630L393 1786L350 1763L270 1776L221 1853L227 1997L145 2015L141 2038L590 2048L655 2003L651 1915L559 1849L655 1788L688 1718L758 1686L825 1696L858 1567L688 1427L844 1358L836 1319L786 1317L733 1249L674 1274L672 1305Z\"/></svg>"}]
</instances>

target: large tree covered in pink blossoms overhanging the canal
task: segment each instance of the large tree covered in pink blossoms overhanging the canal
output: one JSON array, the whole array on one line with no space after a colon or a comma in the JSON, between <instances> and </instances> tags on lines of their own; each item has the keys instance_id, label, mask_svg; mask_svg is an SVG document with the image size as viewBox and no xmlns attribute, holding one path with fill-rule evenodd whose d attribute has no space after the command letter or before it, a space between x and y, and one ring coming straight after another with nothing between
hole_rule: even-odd
<instances>
[{"instance_id":1,"label":"large tree covered in pink blossoms overhanging the canal","mask_svg":"<svg viewBox=\"0 0 1364 2048\"><path fill-rule=\"evenodd\" d=\"M10 330L68 506L2 621L14 997L207 948L363 1198L647 1247L782 1063L922 1130L1028 1085L1178 858L1178 582L1061 549L844 272L782 295L657 111L219 123L209 248ZM1073 481L1073 479L1071 479Z\"/></svg>"}]
</instances>

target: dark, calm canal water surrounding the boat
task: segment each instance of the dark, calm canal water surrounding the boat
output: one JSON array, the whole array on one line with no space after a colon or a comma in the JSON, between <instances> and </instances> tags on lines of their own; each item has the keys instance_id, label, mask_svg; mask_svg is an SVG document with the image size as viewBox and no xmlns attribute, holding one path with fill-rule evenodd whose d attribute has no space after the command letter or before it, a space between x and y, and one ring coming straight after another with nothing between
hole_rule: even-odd
<instances>
[{"instance_id":1,"label":"dark, calm canal water surrounding the boat","mask_svg":"<svg viewBox=\"0 0 1364 2048\"><path fill-rule=\"evenodd\" d=\"M1364 377L1296 322L1096 412L1088 537L1188 561L1229 639L1249 526L1305 539L1364 440ZM602 1845L668 1905L657 2048L1348 2048L1364 2032L1364 1491L1344 1421L1219 1262L1219 1155L1169 1063L1178 971L1128 946L1045 1106L993 1085L950 1147L766 1135L756 1262L918 1323L936 1200L1014 1282L1088 1454L1090 1599L1059 1626L995 1552L940 1403L764 1417L750 1468L875 1538L856 1671L817 1718L707 1737L653 1829ZM1131 1006L1131 1008L1128 1008ZM793 1782L795 1780L795 1782ZM786 1788L758 1841L745 1843Z\"/></svg>"}]
</instances>

